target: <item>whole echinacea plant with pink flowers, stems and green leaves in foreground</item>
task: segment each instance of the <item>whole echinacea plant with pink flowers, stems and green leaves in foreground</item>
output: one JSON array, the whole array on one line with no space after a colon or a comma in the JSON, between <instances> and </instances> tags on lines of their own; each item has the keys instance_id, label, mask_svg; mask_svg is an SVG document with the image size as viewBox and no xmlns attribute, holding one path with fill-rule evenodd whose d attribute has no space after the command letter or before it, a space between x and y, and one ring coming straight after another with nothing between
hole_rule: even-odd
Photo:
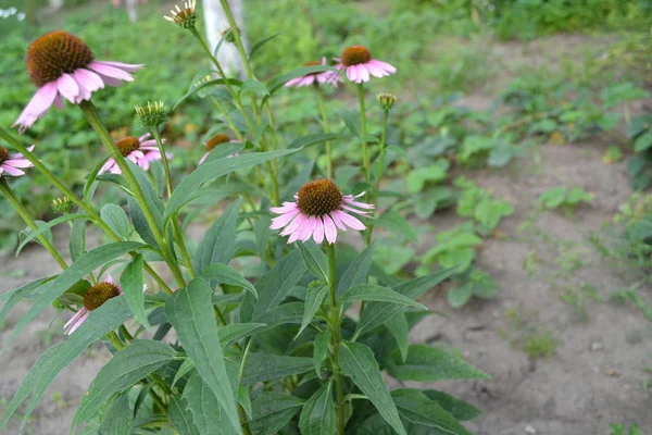
<instances>
[{"instance_id":1,"label":"whole echinacea plant with pink flowers, stems and green leaves in foreground","mask_svg":"<svg viewBox=\"0 0 652 435\"><path fill-rule=\"evenodd\" d=\"M168 164L174 144L162 138L170 117L162 101L138 104L136 116L146 132L118 140L106 130L102 108L91 101L103 86L133 80L129 73L142 65L95 61L85 42L64 32L28 48L27 72L39 90L16 121L18 132L51 104L63 107L67 99L82 110L105 154L88 162L86 185L74 191L40 161L38 149L0 128L0 192L27 225L21 248L40 244L62 269L1 296L0 323L18 301L29 299L32 306L0 352L48 306L66 322L53 323L66 339L32 366L4 407L3 430L27 401L23 432L52 380L100 341L112 357L80 399L71 433L469 434L461 421L479 414L472 405L430 387L390 390L386 384L389 377L396 386L488 377L455 352L409 340L410 330L428 315L417 299L456 269L403 281L374 258L387 120L397 99L378 97L384 127L378 140L369 140L363 84L396 69L355 46L343 50L335 67L323 60L259 80L228 2L221 3L247 82L224 75L195 28L195 1L166 16L190 30L214 66L216 77L202 76L189 95L223 89L220 99L209 99L221 124L205 128L209 139L195 145L204 154L186 162L197 167L180 179ZM340 75L358 86L362 132L329 132L327 98L319 87L342 83L346 92ZM317 91L324 132L283 140L274 97L304 85ZM244 92L244 86L264 92ZM186 98L173 110L183 110ZM224 133L215 135L214 127ZM330 144L361 148L353 183L333 181L338 162L331 161ZM310 164L306 171L305 157L299 158L304 153L325 157L326 164ZM29 176L26 167L61 191L52 203L59 217L36 221L23 207L25 199L13 194L12 177ZM123 201L98 208L99 184L104 191L115 189ZM215 211L220 216L208 231L190 239L189 224L201 231L192 219ZM64 254L50 229L65 223L71 239ZM88 248L87 232L103 234L105 244ZM354 246L362 247L360 252Z\"/></svg>"}]
</instances>

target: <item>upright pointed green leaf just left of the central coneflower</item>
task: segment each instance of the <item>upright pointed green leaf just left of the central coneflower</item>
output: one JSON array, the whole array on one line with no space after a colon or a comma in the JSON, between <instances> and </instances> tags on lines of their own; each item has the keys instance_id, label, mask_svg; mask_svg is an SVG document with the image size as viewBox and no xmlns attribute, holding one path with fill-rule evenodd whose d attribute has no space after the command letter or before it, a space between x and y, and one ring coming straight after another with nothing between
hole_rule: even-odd
<instances>
[{"instance_id":1,"label":"upright pointed green leaf just left of the central coneflower","mask_svg":"<svg viewBox=\"0 0 652 435\"><path fill-rule=\"evenodd\" d=\"M236 253L236 224L240 203L240 200L231 203L204 235L192 258L196 271L203 271L214 263L226 264Z\"/></svg>"}]
</instances>

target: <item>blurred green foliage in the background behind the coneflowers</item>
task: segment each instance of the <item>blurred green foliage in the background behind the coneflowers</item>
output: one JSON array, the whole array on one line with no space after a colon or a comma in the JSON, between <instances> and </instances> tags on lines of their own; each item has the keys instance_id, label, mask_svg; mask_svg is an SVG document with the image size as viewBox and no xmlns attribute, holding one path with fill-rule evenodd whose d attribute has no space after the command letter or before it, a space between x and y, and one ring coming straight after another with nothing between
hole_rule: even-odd
<instances>
[{"instance_id":1,"label":"blurred green foliage in the background behind the coneflowers","mask_svg":"<svg viewBox=\"0 0 652 435\"><path fill-rule=\"evenodd\" d=\"M108 0L66 0L57 13L47 12L48 2L38 0L36 25L28 17L17 18L27 3L0 0L4 11L0 15L0 123L4 127L15 121L35 90L24 67L26 48L51 29L82 37L97 59L147 64L134 83L93 96L116 138L143 133L134 121L134 104L162 99L172 107L197 73L208 67L191 36L162 18L175 2L149 0L139 5L138 22L130 23L126 12ZM454 206L460 195L474 188L453 184L454 178L447 175L451 164L503 166L532 142L570 142L612 129L618 121L613 108L647 96L644 88L652 78L652 0L244 0L244 5L250 41L281 33L253 59L260 79L322 55L338 57L343 47L354 44L367 46L376 58L398 66L398 75L372 80L369 88L371 95L393 91L399 96L390 140L405 149L409 160L394 156L390 173L397 177L411 174L408 184L401 178L396 187L419 199L405 201L403 207L421 219ZM12 7L17 12L8 14ZM488 50L491 44L569 33L606 37L610 44L599 47L600 52L586 53L579 66L563 63L561 70L552 71L546 65L524 65L510 71L509 83L498 92L492 89L499 95L496 104L504 109L501 116L451 105L463 92L481 91L505 73L501 59ZM335 117L354 96L341 89L330 92L337 92L329 109ZM319 132L316 100L310 92L281 92L275 104L288 141ZM374 105L371 117L379 120L379 113ZM218 124L209 100L193 97L176 110L164 136L174 148L177 174L195 166L203 152L203 135L215 132ZM649 123L639 124L631 132L632 141L650 129ZM372 123L372 128L377 126ZM652 134L649 137L650 144L644 139L629 150L639 154L639 162L631 165L632 178L643 177L639 188L649 184ZM70 104L61 112L50 110L22 140L37 144L42 160L77 187L104 152L80 111ZM349 163L346 152L336 150L336 157L339 165ZM12 181L12 187L32 212L41 219L50 216L54 192L35 171ZM1 201L0 231L15 234L22 225ZM497 213L505 213L504 208L489 215L486 208L481 210L478 222L485 233L498 225ZM9 247L15 238L0 240ZM437 256L441 252L430 254L428 261Z\"/></svg>"}]
</instances>

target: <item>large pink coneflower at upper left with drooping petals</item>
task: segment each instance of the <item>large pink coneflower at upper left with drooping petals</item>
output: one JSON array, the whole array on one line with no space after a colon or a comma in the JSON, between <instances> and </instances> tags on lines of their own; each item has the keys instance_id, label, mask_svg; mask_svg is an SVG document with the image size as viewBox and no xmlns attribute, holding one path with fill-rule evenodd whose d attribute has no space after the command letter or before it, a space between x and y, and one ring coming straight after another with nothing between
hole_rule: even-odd
<instances>
[{"instance_id":1,"label":"large pink coneflower at upper left with drooping petals","mask_svg":"<svg viewBox=\"0 0 652 435\"><path fill-rule=\"evenodd\" d=\"M142 65L96 61L90 48L66 32L54 30L32 42L27 49L27 73L38 90L14 126L23 133L54 104L63 109L65 98L73 104L89 100L104 85L121 86L133 82L130 72Z\"/></svg>"}]
</instances>

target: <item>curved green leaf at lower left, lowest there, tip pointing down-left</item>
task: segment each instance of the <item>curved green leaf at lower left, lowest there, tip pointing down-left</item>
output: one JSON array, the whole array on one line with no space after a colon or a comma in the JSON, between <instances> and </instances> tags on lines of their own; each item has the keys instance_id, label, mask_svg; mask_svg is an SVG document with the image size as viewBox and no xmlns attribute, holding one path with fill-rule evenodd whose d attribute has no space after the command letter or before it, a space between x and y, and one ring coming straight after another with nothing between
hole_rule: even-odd
<instances>
[{"instance_id":1,"label":"curved green leaf at lower left, lowest there, tip pointing down-left","mask_svg":"<svg viewBox=\"0 0 652 435\"><path fill-rule=\"evenodd\" d=\"M104 365L82 398L73 427L90 419L111 396L125 390L172 361L175 350L154 340L136 339Z\"/></svg>"}]
</instances>

